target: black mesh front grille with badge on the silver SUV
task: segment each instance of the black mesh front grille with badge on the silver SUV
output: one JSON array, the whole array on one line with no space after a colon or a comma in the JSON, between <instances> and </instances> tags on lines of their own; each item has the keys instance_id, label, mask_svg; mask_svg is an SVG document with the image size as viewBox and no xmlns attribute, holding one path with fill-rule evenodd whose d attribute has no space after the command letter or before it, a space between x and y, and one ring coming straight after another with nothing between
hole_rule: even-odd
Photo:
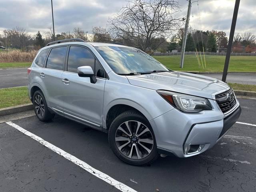
<instances>
[{"instance_id":1,"label":"black mesh front grille with badge on the silver SUV","mask_svg":"<svg viewBox=\"0 0 256 192\"><path fill-rule=\"evenodd\" d=\"M230 94L230 99L228 99L228 94ZM215 95L215 99L223 113L229 111L236 105L236 98L232 89Z\"/></svg>"}]
</instances>

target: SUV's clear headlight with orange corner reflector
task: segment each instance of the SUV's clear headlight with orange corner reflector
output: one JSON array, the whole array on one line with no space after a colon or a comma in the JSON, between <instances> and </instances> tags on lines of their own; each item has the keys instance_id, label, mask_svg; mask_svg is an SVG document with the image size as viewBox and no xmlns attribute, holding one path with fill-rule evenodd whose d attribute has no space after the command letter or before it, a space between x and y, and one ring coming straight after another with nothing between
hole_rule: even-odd
<instances>
[{"instance_id":1,"label":"SUV's clear headlight with orange corner reflector","mask_svg":"<svg viewBox=\"0 0 256 192\"><path fill-rule=\"evenodd\" d=\"M210 102L202 97L190 96L170 91L156 91L172 106L184 112L200 112L203 110L212 110Z\"/></svg>"}]
</instances>

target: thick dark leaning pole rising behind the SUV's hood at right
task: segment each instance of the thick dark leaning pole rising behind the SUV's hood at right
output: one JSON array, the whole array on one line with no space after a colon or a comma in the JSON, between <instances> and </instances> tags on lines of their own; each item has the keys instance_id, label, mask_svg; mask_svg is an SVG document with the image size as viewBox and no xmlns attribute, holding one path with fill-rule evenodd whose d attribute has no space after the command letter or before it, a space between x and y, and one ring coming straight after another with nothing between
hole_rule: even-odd
<instances>
[{"instance_id":1,"label":"thick dark leaning pole rising behind the SUV's hood at right","mask_svg":"<svg viewBox=\"0 0 256 192\"><path fill-rule=\"evenodd\" d=\"M227 78L227 74L228 74L228 64L229 64L229 60L230 60L230 54L231 54L231 49L232 49L232 44L233 44L233 39L234 39L234 33L235 33L235 28L236 28L236 18L237 18L237 14L238 14L239 4L240 4L240 0L236 0L233 18L232 18L232 24L231 24L231 28L230 28L229 39L228 39L228 49L227 49L227 54L226 54L226 59L225 59L225 64L224 64L224 69L223 69L223 74L222 74L222 81L224 81L224 82L226 82L226 78Z\"/></svg>"}]
</instances>

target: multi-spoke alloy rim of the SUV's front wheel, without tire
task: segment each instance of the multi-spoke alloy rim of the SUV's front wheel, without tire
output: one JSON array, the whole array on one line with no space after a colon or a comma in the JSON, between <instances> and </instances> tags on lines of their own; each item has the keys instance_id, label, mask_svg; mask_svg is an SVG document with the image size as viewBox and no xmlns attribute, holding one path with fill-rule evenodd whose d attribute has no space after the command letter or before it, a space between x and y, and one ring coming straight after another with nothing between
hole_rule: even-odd
<instances>
[{"instance_id":1,"label":"multi-spoke alloy rim of the SUV's front wheel, without tire","mask_svg":"<svg viewBox=\"0 0 256 192\"><path fill-rule=\"evenodd\" d=\"M138 121L126 121L116 130L116 145L128 158L142 159L150 154L154 138L150 129Z\"/></svg>"}]
</instances>

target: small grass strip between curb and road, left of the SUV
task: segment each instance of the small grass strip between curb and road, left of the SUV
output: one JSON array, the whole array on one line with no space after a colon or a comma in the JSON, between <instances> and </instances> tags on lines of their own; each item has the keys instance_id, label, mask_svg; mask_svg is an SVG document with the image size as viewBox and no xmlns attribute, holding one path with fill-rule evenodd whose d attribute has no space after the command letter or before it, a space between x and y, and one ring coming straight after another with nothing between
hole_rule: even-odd
<instances>
[{"instance_id":1,"label":"small grass strip between curb and road, left of the SUV","mask_svg":"<svg viewBox=\"0 0 256 192\"><path fill-rule=\"evenodd\" d=\"M30 103L27 87L0 89L0 108Z\"/></svg>"}]
</instances>

